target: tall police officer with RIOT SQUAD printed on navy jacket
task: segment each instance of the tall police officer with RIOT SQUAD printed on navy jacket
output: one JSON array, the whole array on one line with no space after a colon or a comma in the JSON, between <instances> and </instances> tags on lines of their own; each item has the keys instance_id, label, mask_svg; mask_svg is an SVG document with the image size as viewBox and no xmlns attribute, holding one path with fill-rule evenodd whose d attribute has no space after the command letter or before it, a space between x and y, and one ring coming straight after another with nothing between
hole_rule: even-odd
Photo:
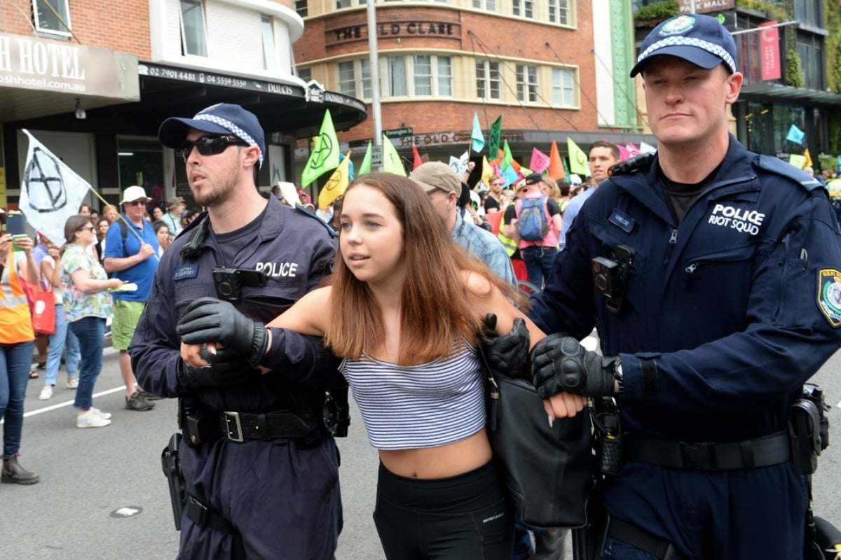
<instances>
[{"instance_id":1,"label":"tall police officer with RIOT SQUAD printed on navy jacket","mask_svg":"<svg viewBox=\"0 0 841 560\"><path fill-rule=\"evenodd\" d=\"M787 419L841 341L841 243L814 178L728 133L736 60L715 18L648 34L631 76L658 152L612 168L532 299L554 414L562 391L618 401L602 559L803 557ZM594 326L603 355L578 343Z\"/></svg>"}]
</instances>

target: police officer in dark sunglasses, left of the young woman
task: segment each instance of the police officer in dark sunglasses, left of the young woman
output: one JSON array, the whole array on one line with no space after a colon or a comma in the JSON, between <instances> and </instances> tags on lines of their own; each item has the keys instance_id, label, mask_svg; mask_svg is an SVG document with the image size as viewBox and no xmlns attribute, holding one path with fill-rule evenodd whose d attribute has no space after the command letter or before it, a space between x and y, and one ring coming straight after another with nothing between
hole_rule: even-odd
<instances>
[{"instance_id":1,"label":"police officer in dark sunglasses, left of the young woman","mask_svg":"<svg viewBox=\"0 0 841 560\"><path fill-rule=\"evenodd\" d=\"M322 417L325 390L346 391L345 381L320 339L268 339L261 323L331 272L332 230L257 191L266 146L242 107L168 118L158 137L181 149L193 196L208 209L161 257L129 348L140 384L179 398L187 497L178 557L333 558L339 461ZM239 321L217 324L214 340L225 348L192 369L178 354L177 323L189 303L210 296L221 301L204 309Z\"/></svg>"}]
</instances>

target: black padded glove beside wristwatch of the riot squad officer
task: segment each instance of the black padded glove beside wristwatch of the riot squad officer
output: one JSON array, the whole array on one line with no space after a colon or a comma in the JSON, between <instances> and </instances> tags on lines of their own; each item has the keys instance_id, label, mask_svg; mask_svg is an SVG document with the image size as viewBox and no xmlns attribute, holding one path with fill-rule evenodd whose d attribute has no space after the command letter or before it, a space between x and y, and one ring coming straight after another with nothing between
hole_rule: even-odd
<instances>
[{"instance_id":1,"label":"black padded glove beside wristwatch of the riot squad officer","mask_svg":"<svg viewBox=\"0 0 841 560\"><path fill-rule=\"evenodd\" d=\"M584 396L613 395L616 359L590 352L563 333L551 334L532 350L534 386L541 399L563 391Z\"/></svg>"}]
</instances>

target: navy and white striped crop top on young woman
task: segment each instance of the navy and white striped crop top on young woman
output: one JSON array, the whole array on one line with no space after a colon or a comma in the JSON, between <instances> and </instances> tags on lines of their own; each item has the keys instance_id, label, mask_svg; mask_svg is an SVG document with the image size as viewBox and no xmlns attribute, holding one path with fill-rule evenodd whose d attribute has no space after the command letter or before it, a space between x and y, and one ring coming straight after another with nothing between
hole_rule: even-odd
<instances>
[{"instance_id":1,"label":"navy and white striped crop top on young woman","mask_svg":"<svg viewBox=\"0 0 841 560\"><path fill-rule=\"evenodd\" d=\"M363 354L344 360L340 369L373 447L437 447L484 427L484 377L467 344L426 364L400 366Z\"/></svg>"}]
</instances>

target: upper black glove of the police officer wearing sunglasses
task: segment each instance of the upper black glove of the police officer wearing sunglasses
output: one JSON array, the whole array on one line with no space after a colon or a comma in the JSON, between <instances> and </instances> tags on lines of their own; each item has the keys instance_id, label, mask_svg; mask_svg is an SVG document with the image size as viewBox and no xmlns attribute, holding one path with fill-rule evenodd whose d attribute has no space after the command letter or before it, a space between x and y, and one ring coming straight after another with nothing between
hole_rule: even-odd
<instances>
[{"instance_id":1,"label":"upper black glove of the police officer wearing sunglasses","mask_svg":"<svg viewBox=\"0 0 841 560\"><path fill-rule=\"evenodd\" d=\"M229 353L246 357L251 368L260 364L268 345L262 322L214 297L200 297L188 305L175 332L187 344L220 343Z\"/></svg>"}]
</instances>

